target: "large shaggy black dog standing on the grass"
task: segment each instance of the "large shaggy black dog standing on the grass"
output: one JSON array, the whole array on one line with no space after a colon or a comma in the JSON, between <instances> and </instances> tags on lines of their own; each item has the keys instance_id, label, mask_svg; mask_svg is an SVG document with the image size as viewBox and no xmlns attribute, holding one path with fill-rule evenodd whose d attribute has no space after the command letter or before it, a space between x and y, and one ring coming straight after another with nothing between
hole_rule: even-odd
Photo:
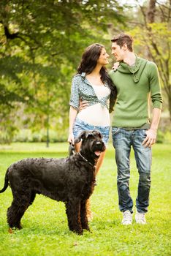
<instances>
[{"instance_id":1,"label":"large shaggy black dog standing on the grass","mask_svg":"<svg viewBox=\"0 0 171 256\"><path fill-rule=\"evenodd\" d=\"M23 159L7 169L4 192L8 184L13 201L7 210L10 227L21 228L20 219L36 194L42 194L66 205L69 230L83 234L89 230L86 201L94 190L95 165L100 152L105 150L100 132L85 131L75 140L82 140L80 153L62 159Z\"/></svg>"}]
</instances>

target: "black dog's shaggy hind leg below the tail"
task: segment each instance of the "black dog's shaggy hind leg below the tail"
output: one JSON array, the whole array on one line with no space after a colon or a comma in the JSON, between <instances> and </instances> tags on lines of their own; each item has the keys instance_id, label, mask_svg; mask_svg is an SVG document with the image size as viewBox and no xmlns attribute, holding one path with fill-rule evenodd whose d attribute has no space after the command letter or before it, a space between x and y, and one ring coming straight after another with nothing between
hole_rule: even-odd
<instances>
[{"instance_id":1,"label":"black dog's shaggy hind leg below the tail","mask_svg":"<svg viewBox=\"0 0 171 256\"><path fill-rule=\"evenodd\" d=\"M24 212L30 205L31 192L25 190L24 192L14 192L14 199L12 205L7 210L7 222L9 227L16 227L21 229L20 219L23 217Z\"/></svg>"}]
</instances>

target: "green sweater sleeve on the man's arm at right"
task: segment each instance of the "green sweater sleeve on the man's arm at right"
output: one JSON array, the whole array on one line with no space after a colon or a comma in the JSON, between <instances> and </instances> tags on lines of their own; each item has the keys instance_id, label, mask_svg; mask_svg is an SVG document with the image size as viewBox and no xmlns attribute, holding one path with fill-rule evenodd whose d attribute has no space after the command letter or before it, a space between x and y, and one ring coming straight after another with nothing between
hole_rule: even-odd
<instances>
[{"instance_id":1,"label":"green sweater sleeve on the man's arm at right","mask_svg":"<svg viewBox=\"0 0 171 256\"><path fill-rule=\"evenodd\" d=\"M151 89L151 101L153 103L153 108L162 108L162 97L161 97L161 85L159 79L159 71L156 64L150 62L150 89Z\"/></svg>"}]
</instances>

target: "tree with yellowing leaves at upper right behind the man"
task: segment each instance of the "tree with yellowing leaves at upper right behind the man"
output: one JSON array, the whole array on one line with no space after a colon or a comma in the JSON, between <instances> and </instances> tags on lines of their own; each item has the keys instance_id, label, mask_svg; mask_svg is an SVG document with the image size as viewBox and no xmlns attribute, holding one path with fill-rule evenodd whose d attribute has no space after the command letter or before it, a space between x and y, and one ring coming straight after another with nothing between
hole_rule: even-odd
<instances>
[{"instance_id":1,"label":"tree with yellowing leaves at upper right behind the man","mask_svg":"<svg viewBox=\"0 0 171 256\"><path fill-rule=\"evenodd\" d=\"M135 45L142 49L143 56L154 61L159 67L159 74L163 89L167 95L168 109L171 121L171 1L161 4L159 1L150 0L148 6L141 6L142 21L133 22L134 29L129 32L134 36ZM140 17L140 12L138 15ZM139 49L140 49L139 48Z\"/></svg>"}]
</instances>

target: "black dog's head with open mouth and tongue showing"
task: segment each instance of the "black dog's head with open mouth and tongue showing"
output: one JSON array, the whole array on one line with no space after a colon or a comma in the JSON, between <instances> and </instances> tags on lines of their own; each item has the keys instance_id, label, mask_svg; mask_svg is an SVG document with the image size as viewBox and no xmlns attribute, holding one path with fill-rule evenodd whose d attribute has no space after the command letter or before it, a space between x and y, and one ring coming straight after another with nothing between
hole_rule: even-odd
<instances>
[{"instance_id":1,"label":"black dog's head with open mouth and tongue showing","mask_svg":"<svg viewBox=\"0 0 171 256\"><path fill-rule=\"evenodd\" d=\"M98 130L83 131L75 139L75 143L80 142L80 152L86 157L99 158L100 154L106 149L102 141L102 134Z\"/></svg>"}]
</instances>

